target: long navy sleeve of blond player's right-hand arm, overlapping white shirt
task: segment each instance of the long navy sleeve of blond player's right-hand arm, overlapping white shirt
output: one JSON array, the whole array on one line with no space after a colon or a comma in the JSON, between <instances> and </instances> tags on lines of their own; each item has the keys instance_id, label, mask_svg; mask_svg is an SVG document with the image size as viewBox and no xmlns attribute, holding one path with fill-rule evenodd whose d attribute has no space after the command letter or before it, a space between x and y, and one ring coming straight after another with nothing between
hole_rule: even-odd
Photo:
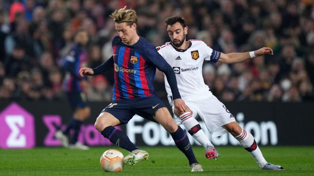
<instances>
[{"instance_id":1,"label":"long navy sleeve of blond player's right-hand arm, overlapping white shirt","mask_svg":"<svg viewBox=\"0 0 314 176\"><path fill-rule=\"evenodd\" d=\"M146 49L146 52L144 52L144 56L146 60L149 60L151 63L153 63L158 70L165 73L168 83L170 85L170 89L172 92L173 99L181 98L177 81L176 81L176 75L173 72L173 69L171 66L167 63L167 61L159 54L159 51L153 46L149 45Z\"/></svg>"}]
</instances>

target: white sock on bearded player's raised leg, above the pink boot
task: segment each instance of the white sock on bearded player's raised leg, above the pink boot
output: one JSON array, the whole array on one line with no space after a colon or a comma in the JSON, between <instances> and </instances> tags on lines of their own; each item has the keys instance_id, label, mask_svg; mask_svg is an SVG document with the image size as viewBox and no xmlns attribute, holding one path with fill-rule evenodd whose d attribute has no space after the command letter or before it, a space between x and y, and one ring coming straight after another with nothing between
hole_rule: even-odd
<instances>
[{"instance_id":1,"label":"white sock on bearded player's raised leg, above the pink boot","mask_svg":"<svg viewBox=\"0 0 314 176\"><path fill-rule=\"evenodd\" d=\"M198 121L193 118L190 112L186 112L180 116L180 119L188 132L206 149L208 146L214 146L205 135Z\"/></svg>"}]
</instances>

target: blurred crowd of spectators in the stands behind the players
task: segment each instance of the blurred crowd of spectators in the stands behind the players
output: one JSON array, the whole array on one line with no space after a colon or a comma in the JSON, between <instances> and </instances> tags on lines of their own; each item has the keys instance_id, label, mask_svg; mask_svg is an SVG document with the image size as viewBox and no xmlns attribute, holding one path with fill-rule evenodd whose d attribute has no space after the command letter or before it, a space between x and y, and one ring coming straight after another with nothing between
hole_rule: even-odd
<instances>
[{"instance_id":1,"label":"blurred crowd of spectators in the stands behind the players","mask_svg":"<svg viewBox=\"0 0 314 176\"><path fill-rule=\"evenodd\" d=\"M117 35L109 15L138 15L138 34L155 46L169 42L164 20L185 18L187 39L223 53L270 47L274 55L227 65L205 62L203 77L221 101L314 101L313 0L0 0L0 100L63 99L60 62L73 34L90 34L89 67L112 55ZM111 101L113 71L82 82L89 101ZM157 94L166 97L157 71Z\"/></svg>"}]
</instances>

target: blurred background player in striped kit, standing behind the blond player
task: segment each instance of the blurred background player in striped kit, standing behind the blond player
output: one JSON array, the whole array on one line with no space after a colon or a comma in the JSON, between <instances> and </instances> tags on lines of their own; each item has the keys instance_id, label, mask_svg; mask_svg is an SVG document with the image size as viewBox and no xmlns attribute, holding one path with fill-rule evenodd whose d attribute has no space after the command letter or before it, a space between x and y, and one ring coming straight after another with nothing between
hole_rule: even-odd
<instances>
[{"instance_id":1,"label":"blurred background player in striped kit, standing behind the blond player","mask_svg":"<svg viewBox=\"0 0 314 176\"><path fill-rule=\"evenodd\" d=\"M59 139L62 146L66 148L88 150L88 146L78 142L81 124L90 116L90 108L86 103L86 96L80 85L84 78L79 74L79 69L87 65L86 46L89 41L87 30L78 28L74 35L74 41L75 44L63 61L63 68L67 72L64 89L67 92L68 100L74 113L66 129L57 131L55 137ZM71 129L74 130L74 134L72 138L68 140Z\"/></svg>"}]
</instances>

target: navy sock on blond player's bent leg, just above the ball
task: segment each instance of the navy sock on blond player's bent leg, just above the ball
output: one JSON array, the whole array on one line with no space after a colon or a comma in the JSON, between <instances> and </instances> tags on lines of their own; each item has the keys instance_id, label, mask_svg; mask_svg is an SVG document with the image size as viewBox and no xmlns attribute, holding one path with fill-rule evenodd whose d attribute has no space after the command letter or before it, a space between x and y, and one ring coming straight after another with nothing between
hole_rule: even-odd
<instances>
[{"instance_id":1,"label":"navy sock on blond player's bent leg, just above the ball","mask_svg":"<svg viewBox=\"0 0 314 176\"><path fill-rule=\"evenodd\" d=\"M130 152L139 149L130 141L129 137L127 137L126 134L116 129L115 127L112 126L106 127L101 132L101 134L107 139L109 139L109 141L112 142L113 144L116 144L117 146L124 148Z\"/></svg>"}]
</instances>

